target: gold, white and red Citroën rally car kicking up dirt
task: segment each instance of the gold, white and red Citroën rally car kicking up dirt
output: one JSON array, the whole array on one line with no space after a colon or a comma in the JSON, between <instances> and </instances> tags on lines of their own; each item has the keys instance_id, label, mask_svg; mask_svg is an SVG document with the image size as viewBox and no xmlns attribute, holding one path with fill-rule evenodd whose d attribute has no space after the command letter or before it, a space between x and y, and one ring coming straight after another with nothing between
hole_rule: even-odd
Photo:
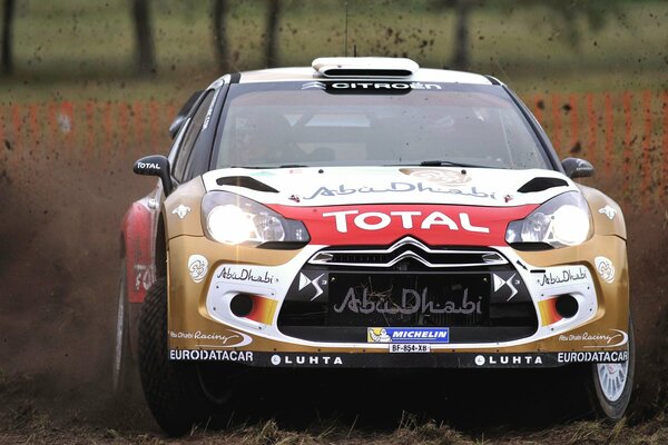
<instances>
[{"instance_id":1,"label":"gold, white and red Citro\u00ebn rally car kicking up dirt","mask_svg":"<svg viewBox=\"0 0 668 445\"><path fill-rule=\"evenodd\" d=\"M592 411L633 378L626 227L493 77L320 58L186 103L121 230L115 385L158 424L228 403L228 369L576 365Z\"/></svg>"}]
</instances>

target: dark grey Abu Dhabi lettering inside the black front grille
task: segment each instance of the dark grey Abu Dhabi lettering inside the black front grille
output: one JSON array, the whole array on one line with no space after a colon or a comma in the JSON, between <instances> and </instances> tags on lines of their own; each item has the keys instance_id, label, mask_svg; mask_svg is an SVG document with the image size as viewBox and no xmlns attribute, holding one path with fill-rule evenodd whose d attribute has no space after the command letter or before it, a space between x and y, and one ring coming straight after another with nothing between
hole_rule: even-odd
<instances>
[{"instance_id":1,"label":"dark grey Abu Dhabi lettering inside the black front grille","mask_svg":"<svg viewBox=\"0 0 668 445\"><path fill-rule=\"evenodd\" d=\"M347 309L355 314L482 314L482 297L479 296L478 301L469 301L468 288L464 289L461 305L456 305L454 301L442 304L430 301L428 293L429 288L426 287L422 289L422 293L403 288L400 305L389 298L389 291L370 291L364 286L362 298L357 298L355 288L350 287L341 305L334 305L334 312L342 314Z\"/></svg>"}]
</instances>

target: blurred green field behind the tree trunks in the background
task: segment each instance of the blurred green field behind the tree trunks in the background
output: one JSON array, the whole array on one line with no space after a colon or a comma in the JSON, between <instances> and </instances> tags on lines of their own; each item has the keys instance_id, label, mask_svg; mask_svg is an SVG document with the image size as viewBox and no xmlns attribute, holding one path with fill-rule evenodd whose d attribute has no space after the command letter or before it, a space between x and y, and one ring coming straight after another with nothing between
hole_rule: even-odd
<instances>
[{"instance_id":1,"label":"blurred green field behind the tree trunks in the background","mask_svg":"<svg viewBox=\"0 0 668 445\"><path fill-rule=\"evenodd\" d=\"M266 2L228 1L228 52L234 70L263 68ZM401 56L421 66L452 59L452 10L435 1L348 0L348 51ZM342 55L345 1L283 1L279 65L308 65ZM471 70L491 73L520 95L668 88L668 3L627 2L591 30L580 18L574 44L563 21L544 7L488 2L471 14ZM605 4L605 3L603 3ZM16 73L1 79L0 102L80 99L183 100L222 73L210 1L150 2L158 73L135 76L130 2L19 1ZM578 3L573 3L578 8Z\"/></svg>"}]
</instances>

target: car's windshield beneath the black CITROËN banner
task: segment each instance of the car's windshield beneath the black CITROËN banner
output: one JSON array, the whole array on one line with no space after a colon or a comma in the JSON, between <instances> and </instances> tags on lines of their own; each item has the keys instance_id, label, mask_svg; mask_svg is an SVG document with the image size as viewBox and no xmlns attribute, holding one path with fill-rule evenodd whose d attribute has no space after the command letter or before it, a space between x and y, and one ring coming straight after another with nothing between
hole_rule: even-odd
<instances>
[{"instance_id":1,"label":"car's windshield beneath the black CITRO\u00cbN banner","mask_svg":"<svg viewBox=\"0 0 668 445\"><path fill-rule=\"evenodd\" d=\"M411 89L414 85L232 85L214 167L549 168L536 135L502 88L429 83Z\"/></svg>"}]
</instances>

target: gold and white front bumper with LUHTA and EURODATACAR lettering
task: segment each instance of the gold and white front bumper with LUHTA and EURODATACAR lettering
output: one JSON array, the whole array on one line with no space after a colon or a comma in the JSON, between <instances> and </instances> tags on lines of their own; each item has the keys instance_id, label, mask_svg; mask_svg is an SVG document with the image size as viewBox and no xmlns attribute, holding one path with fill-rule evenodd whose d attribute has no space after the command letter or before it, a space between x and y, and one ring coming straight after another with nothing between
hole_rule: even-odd
<instances>
[{"instance_id":1,"label":"gold and white front bumper with LUHTA and EURODATACAR lettering","mask_svg":"<svg viewBox=\"0 0 668 445\"><path fill-rule=\"evenodd\" d=\"M439 263L434 260L436 254L412 248L409 250L418 251L418 256L431 263L409 265L403 271L392 267L385 270L377 264L357 267L331 261L318 264L314 259L323 258L316 255L323 249L327 249L326 246L263 250L222 246L203 237L171 239L170 359L354 368L550 367L626 360L628 269L626 243L618 237L595 236L581 246L549 251L491 247L485 250L498 253L502 263L473 266L465 263L465 267L435 265ZM400 254L402 251L393 255ZM612 279L609 269L603 275L597 270L600 258L609 259L615 270ZM193 268L193 261L202 263L202 259L204 269L199 267L203 264ZM381 258L384 264L391 260ZM410 267L416 269L411 271ZM450 306L440 294L441 297L434 297L431 303L422 300L415 310L415 305L397 297L405 296L405 289L394 291L394 297L386 298L384 306L377 305L377 298L375 306L364 300L364 286L348 295L347 301L341 295L341 287L330 291L334 289L332 278L350 278L353 274L362 278L382 275L385 277L382 283L404 286L397 277L426 277L428 273L451 277L473 274L475 283L465 281L464 286L470 284L475 296L464 300L461 283L434 281L440 278L429 278L423 281L424 287L439 283L453 288L460 286ZM482 285L485 278L487 290ZM423 295L418 287L410 290ZM474 299L479 294L480 301ZM563 296L569 296L571 307L576 301L574 313L566 314L569 316L559 307ZM503 305L509 297L515 306L523 305L520 313L525 316L519 317L519 322L518 317L498 317L497 309L508 309ZM310 306L312 299L321 306ZM471 307L472 301L481 305L469 314L472 316L454 316L461 315L454 314L456 310ZM294 309L299 304L306 305L306 309L288 314L291 305ZM318 307L318 315L308 320L307 316L313 315L310 308ZM324 315L322 307L325 307ZM439 310L440 318L435 316ZM301 316L305 323L298 322ZM403 316L410 317L402 322ZM391 319L383 323L387 317ZM379 336L380 329L387 326L395 327L403 336L390 339L386 335ZM410 334L406 333L411 328L416 328L418 334L407 340ZM438 335L441 338L436 340Z\"/></svg>"}]
</instances>

